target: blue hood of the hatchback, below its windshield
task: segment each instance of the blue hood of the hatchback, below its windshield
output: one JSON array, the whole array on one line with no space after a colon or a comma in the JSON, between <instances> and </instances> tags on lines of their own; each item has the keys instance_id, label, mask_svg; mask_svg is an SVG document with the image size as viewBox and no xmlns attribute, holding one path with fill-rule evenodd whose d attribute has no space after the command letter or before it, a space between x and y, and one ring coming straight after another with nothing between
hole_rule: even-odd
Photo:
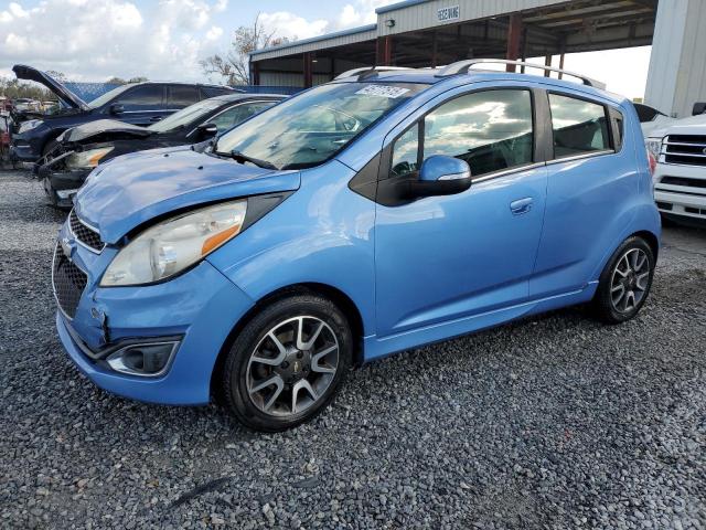
<instances>
[{"instance_id":1,"label":"blue hood of the hatchback, below its windshield","mask_svg":"<svg viewBox=\"0 0 706 530\"><path fill-rule=\"evenodd\" d=\"M299 188L298 171L245 166L192 149L140 151L100 165L78 190L78 216L117 243L154 218L208 203Z\"/></svg>"}]
</instances>

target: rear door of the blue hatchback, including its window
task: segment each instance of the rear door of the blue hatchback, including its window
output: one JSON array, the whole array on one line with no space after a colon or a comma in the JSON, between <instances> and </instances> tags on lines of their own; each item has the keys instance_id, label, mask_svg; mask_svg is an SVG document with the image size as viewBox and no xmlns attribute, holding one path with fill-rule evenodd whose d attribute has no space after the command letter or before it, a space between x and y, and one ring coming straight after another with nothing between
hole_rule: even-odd
<instances>
[{"instance_id":1,"label":"rear door of the blue hatchback, including its window","mask_svg":"<svg viewBox=\"0 0 706 530\"><path fill-rule=\"evenodd\" d=\"M553 156L547 205L531 296L582 289L617 244L639 200L633 149L623 148L624 117L608 102L549 92Z\"/></svg>"}]
</instances>

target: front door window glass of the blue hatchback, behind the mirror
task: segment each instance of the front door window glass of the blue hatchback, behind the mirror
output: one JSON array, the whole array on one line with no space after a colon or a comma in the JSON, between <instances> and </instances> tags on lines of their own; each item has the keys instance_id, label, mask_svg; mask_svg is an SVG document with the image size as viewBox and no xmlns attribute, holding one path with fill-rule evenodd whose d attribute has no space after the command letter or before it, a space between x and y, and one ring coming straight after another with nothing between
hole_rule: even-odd
<instances>
[{"instance_id":1,"label":"front door window glass of the blue hatchback, behind the mirror","mask_svg":"<svg viewBox=\"0 0 706 530\"><path fill-rule=\"evenodd\" d=\"M486 91L457 97L425 117L422 160L446 155L466 160L474 177L533 161L532 97L528 91ZM413 128L393 150L393 174L416 171Z\"/></svg>"}]
</instances>

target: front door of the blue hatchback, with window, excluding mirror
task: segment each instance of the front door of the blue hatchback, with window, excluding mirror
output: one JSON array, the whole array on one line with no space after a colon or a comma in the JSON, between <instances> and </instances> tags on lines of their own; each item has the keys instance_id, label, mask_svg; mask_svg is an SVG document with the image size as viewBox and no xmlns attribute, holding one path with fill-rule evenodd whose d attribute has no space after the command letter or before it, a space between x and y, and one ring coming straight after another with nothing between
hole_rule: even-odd
<instances>
[{"instance_id":1,"label":"front door of the blue hatchback, with window, excluding mirror","mask_svg":"<svg viewBox=\"0 0 706 530\"><path fill-rule=\"evenodd\" d=\"M533 135L532 93L506 88L453 97L395 139L376 206L378 338L527 298L546 195ZM414 178L432 155L466 160L471 188L381 203L392 179Z\"/></svg>"}]
</instances>

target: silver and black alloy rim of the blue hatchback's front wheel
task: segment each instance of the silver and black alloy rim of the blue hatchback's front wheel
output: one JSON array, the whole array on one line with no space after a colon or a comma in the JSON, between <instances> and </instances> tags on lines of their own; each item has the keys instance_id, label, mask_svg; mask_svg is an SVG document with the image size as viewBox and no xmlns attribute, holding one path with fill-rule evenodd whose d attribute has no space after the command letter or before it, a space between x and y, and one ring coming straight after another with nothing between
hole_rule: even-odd
<instances>
[{"instance_id":1,"label":"silver and black alloy rim of the blue hatchback's front wheel","mask_svg":"<svg viewBox=\"0 0 706 530\"><path fill-rule=\"evenodd\" d=\"M265 414L291 416L319 401L339 368L339 340L312 316L284 320L269 329L250 353L246 386Z\"/></svg>"}]
</instances>

